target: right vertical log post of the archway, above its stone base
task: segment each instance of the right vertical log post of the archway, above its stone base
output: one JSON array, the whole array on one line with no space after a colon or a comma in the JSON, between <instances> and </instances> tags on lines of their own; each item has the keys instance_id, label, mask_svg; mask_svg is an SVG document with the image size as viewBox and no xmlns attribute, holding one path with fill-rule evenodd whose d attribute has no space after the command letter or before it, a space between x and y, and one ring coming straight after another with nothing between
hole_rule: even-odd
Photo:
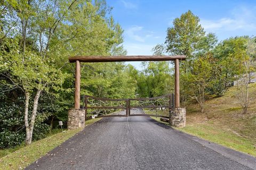
<instances>
[{"instance_id":1,"label":"right vertical log post of the archway, above its stone base","mask_svg":"<svg viewBox=\"0 0 256 170\"><path fill-rule=\"evenodd\" d=\"M179 59L175 59L175 107L180 107L180 70L179 70Z\"/></svg>"}]
</instances>

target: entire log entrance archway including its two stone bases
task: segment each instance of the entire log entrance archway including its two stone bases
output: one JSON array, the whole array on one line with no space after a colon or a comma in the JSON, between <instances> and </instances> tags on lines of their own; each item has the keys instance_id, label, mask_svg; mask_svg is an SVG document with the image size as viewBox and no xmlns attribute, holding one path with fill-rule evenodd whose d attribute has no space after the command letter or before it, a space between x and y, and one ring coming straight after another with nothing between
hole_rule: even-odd
<instances>
[{"instance_id":1,"label":"entire log entrance archway including its two stone bases","mask_svg":"<svg viewBox=\"0 0 256 170\"><path fill-rule=\"evenodd\" d=\"M75 108L68 111L68 129L83 128L85 125L85 109L80 108L80 82L81 82L81 62L133 62L133 61L174 61L175 64L175 88L174 106L169 110L169 123L175 127L185 127L186 108L180 107L180 80L179 61L185 60L186 56L75 56L69 57L70 63L76 63L75 80Z\"/></svg>"}]
</instances>

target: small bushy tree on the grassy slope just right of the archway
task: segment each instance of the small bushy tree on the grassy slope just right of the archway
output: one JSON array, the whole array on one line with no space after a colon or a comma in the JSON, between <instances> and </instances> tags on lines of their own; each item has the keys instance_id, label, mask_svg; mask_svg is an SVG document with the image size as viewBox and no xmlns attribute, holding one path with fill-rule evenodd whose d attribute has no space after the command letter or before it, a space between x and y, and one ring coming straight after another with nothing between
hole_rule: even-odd
<instances>
[{"instance_id":1,"label":"small bushy tree on the grassy slope just right of the archway","mask_svg":"<svg viewBox=\"0 0 256 170\"><path fill-rule=\"evenodd\" d=\"M218 66L218 60L213 58L212 53L206 53L193 61L190 71L185 75L185 81L189 84L187 93L197 101L201 107L201 112L204 112L206 99L221 96L226 92L221 68Z\"/></svg>"}]
</instances>

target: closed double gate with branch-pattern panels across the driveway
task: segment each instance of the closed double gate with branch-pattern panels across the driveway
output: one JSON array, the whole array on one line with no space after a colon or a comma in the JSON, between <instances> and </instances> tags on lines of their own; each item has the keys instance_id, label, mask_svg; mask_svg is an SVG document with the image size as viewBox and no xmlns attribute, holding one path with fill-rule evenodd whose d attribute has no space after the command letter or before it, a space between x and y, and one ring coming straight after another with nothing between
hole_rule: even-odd
<instances>
[{"instance_id":1,"label":"closed double gate with branch-pattern panels across the driveway","mask_svg":"<svg viewBox=\"0 0 256 170\"><path fill-rule=\"evenodd\" d=\"M92 116L98 117L114 117L114 116L156 116L169 118L169 111L174 108L174 94L158 96L153 98L130 98L130 99L109 99L94 96L83 96L82 109L85 109L85 119ZM133 109L143 109L147 111L156 111L156 114L132 114ZM158 114L157 111L167 111L166 115ZM115 114L117 111L125 111L125 114ZM163 112L162 112L163 113Z\"/></svg>"}]
</instances>

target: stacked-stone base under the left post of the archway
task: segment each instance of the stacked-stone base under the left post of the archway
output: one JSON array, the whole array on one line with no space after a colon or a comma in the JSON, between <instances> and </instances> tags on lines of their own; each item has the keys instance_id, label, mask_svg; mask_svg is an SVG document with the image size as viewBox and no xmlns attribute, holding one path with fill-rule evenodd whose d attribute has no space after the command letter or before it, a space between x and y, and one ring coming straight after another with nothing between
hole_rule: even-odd
<instances>
[{"instance_id":1,"label":"stacked-stone base under the left post of the archway","mask_svg":"<svg viewBox=\"0 0 256 170\"><path fill-rule=\"evenodd\" d=\"M85 109L70 109L68 111L68 130L84 128Z\"/></svg>"}]
</instances>

